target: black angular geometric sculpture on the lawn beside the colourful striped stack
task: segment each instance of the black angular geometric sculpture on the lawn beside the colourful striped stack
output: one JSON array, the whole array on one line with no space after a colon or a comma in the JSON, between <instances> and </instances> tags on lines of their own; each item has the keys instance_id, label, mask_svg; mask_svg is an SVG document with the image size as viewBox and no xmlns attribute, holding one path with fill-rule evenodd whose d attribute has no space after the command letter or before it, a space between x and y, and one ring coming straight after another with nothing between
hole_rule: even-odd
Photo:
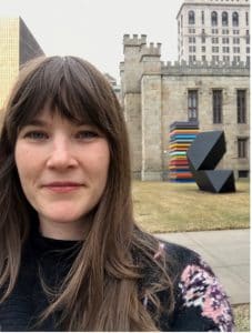
<instances>
[{"instance_id":1,"label":"black angular geometric sculpture on the lawn beside the colourful striped stack","mask_svg":"<svg viewBox=\"0 0 252 333\"><path fill-rule=\"evenodd\" d=\"M202 191L235 192L232 170L214 170L225 153L223 131L201 132L187 152L190 171Z\"/></svg>"}]
</instances>

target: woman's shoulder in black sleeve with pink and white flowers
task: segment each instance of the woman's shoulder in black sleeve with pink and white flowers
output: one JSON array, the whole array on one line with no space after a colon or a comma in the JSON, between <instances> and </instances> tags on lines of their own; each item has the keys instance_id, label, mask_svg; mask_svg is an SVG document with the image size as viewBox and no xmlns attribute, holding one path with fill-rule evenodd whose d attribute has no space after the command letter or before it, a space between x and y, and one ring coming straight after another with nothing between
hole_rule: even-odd
<instances>
[{"instance_id":1,"label":"woman's shoulder in black sleeve with pink and white flowers","mask_svg":"<svg viewBox=\"0 0 252 333\"><path fill-rule=\"evenodd\" d=\"M210 265L190 249L161 244L168 260L173 261L173 331L232 331L229 297Z\"/></svg>"}]
</instances>

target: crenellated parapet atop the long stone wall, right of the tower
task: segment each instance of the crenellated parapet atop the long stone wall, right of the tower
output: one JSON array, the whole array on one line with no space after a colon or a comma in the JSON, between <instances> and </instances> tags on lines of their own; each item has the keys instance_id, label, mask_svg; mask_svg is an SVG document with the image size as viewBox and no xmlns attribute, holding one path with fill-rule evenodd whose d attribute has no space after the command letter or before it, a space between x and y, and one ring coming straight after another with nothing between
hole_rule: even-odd
<instances>
[{"instance_id":1,"label":"crenellated parapet atop the long stone wall, right of the tower","mask_svg":"<svg viewBox=\"0 0 252 333\"><path fill-rule=\"evenodd\" d=\"M169 75L225 75L225 77L249 77L250 64L240 62L214 62L214 61L187 61L162 62L162 74Z\"/></svg>"}]
</instances>

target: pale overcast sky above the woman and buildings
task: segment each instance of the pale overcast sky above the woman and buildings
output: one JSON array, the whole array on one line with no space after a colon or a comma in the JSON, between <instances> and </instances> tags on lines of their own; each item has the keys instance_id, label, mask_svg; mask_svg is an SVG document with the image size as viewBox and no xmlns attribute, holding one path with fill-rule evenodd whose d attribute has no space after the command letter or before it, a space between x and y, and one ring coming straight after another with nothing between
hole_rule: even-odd
<instances>
[{"instance_id":1,"label":"pale overcast sky above the woman and buildings","mask_svg":"<svg viewBox=\"0 0 252 333\"><path fill-rule=\"evenodd\" d=\"M0 0L0 16L20 16L47 56L72 54L119 79L123 34L162 43L177 60L177 14L182 0Z\"/></svg>"}]
</instances>

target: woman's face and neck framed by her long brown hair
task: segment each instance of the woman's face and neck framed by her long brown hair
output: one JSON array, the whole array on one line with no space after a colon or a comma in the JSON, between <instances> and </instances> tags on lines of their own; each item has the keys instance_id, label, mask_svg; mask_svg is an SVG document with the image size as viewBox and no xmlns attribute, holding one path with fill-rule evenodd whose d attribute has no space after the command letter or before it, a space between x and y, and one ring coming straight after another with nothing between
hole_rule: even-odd
<instances>
[{"instance_id":1,"label":"woman's face and neck framed by her long brown hair","mask_svg":"<svg viewBox=\"0 0 252 333\"><path fill-rule=\"evenodd\" d=\"M42 234L81 239L83 216L100 201L107 184L107 139L93 125L77 125L44 108L20 131L14 155Z\"/></svg>"}]
</instances>

